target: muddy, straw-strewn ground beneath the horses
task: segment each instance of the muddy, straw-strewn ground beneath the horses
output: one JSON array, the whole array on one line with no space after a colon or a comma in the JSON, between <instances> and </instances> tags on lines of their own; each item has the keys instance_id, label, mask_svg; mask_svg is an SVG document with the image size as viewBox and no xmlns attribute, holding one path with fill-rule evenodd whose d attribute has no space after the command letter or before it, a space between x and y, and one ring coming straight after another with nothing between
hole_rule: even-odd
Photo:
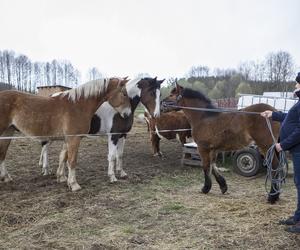
<instances>
[{"instance_id":1,"label":"muddy, straw-strewn ground beneath the horses","mask_svg":"<svg viewBox=\"0 0 300 250\"><path fill-rule=\"evenodd\" d=\"M7 156L11 183L0 183L0 249L299 249L300 236L277 224L292 214L292 177L276 205L266 203L264 175L224 173L229 191L215 180L200 192L199 168L181 166L177 141L161 143L153 158L144 124L128 136L128 178L109 184L106 138L83 139L77 165L82 187L72 193L54 174L41 176L40 145L15 140ZM50 146L53 173L61 142Z\"/></svg>"}]
</instances>

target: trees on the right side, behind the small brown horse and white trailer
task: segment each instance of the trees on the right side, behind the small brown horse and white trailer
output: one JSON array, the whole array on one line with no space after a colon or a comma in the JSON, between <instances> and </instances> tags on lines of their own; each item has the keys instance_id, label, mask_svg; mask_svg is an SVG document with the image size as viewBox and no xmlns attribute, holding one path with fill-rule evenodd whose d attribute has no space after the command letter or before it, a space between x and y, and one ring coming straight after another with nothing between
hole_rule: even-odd
<instances>
[{"instance_id":1,"label":"trees on the right side, behind the small brown horse and white trailer","mask_svg":"<svg viewBox=\"0 0 300 250\"><path fill-rule=\"evenodd\" d=\"M246 61L237 69L214 69L205 65L193 66L178 83L200 90L212 99L237 97L238 94L261 95L266 91L293 91L295 64L285 51L271 52L262 61ZM173 87L174 78L162 88L166 96Z\"/></svg>"}]
</instances>

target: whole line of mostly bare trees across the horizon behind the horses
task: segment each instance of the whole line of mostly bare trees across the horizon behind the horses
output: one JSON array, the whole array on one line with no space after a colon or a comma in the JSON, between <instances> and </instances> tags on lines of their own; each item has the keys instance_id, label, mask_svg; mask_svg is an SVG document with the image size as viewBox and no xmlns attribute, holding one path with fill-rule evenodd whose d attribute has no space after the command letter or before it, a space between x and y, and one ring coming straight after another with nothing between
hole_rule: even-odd
<instances>
[{"instance_id":1,"label":"whole line of mostly bare trees across the horizon behind the horses","mask_svg":"<svg viewBox=\"0 0 300 250\"><path fill-rule=\"evenodd\" d=\"M92 67L87 80L104 75ZM139 77L149 76L147 73ZM205 65L192 66L185 77L178 80L185 87L202 91L213 99L236 97L239 93L262 94L264 91L292 91L295 64L285 51L271 52L262 61L245 61L237 69L214 69ZM175 78L162 87L166 96ZM27 56L14 51L0 50L0 82L17 90L35 92L38 86L64 85L75 87L81 82L81 73L67 60L32 62Z\"/></svg>"}]
</instances>

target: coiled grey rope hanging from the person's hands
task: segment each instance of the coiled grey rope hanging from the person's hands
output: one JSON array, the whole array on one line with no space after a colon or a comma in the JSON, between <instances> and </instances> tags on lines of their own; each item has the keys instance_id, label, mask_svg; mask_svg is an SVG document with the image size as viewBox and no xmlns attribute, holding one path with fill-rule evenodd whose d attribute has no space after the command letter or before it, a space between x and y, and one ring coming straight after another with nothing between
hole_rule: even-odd
<instances>
[{"instance_id":1,"label":"coiled grey rope hanging from the person's hands","mask_svg":"<svg viewBox=\"0 0 300 250\"><path fill-rule=\"evenodd\" d=\"M280 194L282 192L282 185L283 183L285 183L285 178L287 176L288 162L286 159L286 154L283 150L281 150L278 153L278 156L275 154L276 152L275 144L277 143L277 141L273 134L270 119L267 117L266 117L266 122L273 140L273 145L268 149L266 153L266 158L264 160L264 165L267 166L265 189L270 196L273 196L273 195ZM275 169L273 169L272 167L272 162L274 157L277 157L277 159L279 158L278 166ZM273 191L272 193L268 191L270 190L270 187L272 188Z\"/></svg>"}]
</instances>

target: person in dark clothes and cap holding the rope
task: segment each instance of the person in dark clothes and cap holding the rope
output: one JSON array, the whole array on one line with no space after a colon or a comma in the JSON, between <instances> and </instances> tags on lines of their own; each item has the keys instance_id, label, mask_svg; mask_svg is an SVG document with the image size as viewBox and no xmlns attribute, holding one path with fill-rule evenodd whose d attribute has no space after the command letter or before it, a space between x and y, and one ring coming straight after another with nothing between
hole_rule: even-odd
<instances>
[{"instance_id":1,"label":"person in dark clothes and cap holding the rope","mask_svg":"<svg viewBox=\"0 0 300 250\"><path fill-rule=\"evenodd\" d=\"M280 220L279 224L287 225L285 230L291 233L300 233L300 72L296 77L294 95L299 101L288 113L266 110L263 117L271 117L273 121L281 122L279 142L275 144L276 151L288 150L292 155L294 165L294 183L297 189L297 208L293 216Z\"/></svg>"}]
</instances>

